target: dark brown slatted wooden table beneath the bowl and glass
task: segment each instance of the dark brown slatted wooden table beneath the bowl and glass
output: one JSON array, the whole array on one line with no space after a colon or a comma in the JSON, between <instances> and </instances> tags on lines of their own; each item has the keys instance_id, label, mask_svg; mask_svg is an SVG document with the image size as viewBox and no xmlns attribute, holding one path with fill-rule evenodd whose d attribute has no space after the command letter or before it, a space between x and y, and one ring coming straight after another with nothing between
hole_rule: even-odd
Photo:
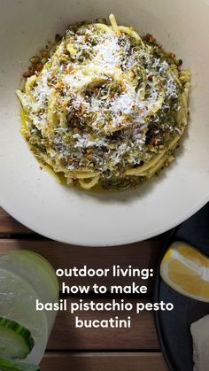
<instances>
[{"instance_id":1,"label":"dark brown slatted wooden table beneath the bowl and glass","mask_svg":"<svg viewBox=\"0 0 209 371\"><path fill-rule=\"evenodd\" d=\"M80 247L56 243L20 225L0 208L0 252L12 249L28 249L48 259L55 268L82 267L152 267L155 269L160 248L166 236L117 247ZM77 284L78 278L65 280ZM79 279L80 284L91 284L92 278ZM97 278L97 283L111 285L128 284L131 278ZM95 280L94 280L95 281ZM137 281L140 282L140 279ZM149 294L143 300L151 300L154 280L148 282ZM93 294L89 294L89 299ZM95 296L94 296L95 298ZM99 298L99 297L98 297ZM102 297L104 300L108 295ZM124 298L121 297L121 298ZM135 302L139 296L129 296ZM80 297L74 297L79 300ZM67 300L72 300L71 296ZM100 298L101 301L101 298ZM140 299L141 301L141 299ZM115 316L117 313L110 313ZM94 313L82 313L82 318L93 318ZM97 312L97 319L104 313ZM50 336L47 351L41 365L42 371L166 371L166 363L159 349L159 340L151 312L140 317L132 313L131 328L74 328L74 316L69 312L58 313Z\"/></svg>"}]
</instances>

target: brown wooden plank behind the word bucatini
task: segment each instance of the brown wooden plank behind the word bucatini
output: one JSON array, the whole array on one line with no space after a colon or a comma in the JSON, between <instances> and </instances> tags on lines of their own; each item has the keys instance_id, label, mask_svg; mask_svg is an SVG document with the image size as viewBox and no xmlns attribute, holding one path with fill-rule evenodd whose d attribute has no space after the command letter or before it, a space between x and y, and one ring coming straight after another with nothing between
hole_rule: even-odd
<instances>
[{"instance_id":1,"label":"brown wooden plank behind the word bucatini","mask_svg":"<svg viewBox=\"0 0 209 371\"><path fill-rule=\"evenodd\" d=\"M82 298L85 302L109 302L111 298ZM124 298L124 297L121 297ZM153 313L143 311L126 312L76 312L70 313L70 304L78 303L80 298L67 298L67 311L59 312L55 326L50 336L48 350L159 350L159 340L156 333ZM120 301L120 298L117 298ZM135 307L137 301L145 302L142 298L127 299ZM126 319L131 316L131 328L75 328L74 317L82 320L103 320L118 316Z\"/></svg>"}]
</instances>

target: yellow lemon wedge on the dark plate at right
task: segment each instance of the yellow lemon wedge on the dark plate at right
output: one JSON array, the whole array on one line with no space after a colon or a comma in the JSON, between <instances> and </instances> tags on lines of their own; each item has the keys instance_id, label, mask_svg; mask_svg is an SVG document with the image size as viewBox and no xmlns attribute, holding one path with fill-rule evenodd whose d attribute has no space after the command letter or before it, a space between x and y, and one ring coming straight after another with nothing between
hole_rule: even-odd
<instances>
[{"instance_id":1,"label":"yellow lemon wedge on the dark plate at right","mask_svg":"<svg viewBox=\"0 0 209 371\"><path fill-rule=\"evenodd\" d=\"M171 244L162 259L160 274L180 294L209 302L209 258L189 243Z\"/></svg>"}]
</instances>

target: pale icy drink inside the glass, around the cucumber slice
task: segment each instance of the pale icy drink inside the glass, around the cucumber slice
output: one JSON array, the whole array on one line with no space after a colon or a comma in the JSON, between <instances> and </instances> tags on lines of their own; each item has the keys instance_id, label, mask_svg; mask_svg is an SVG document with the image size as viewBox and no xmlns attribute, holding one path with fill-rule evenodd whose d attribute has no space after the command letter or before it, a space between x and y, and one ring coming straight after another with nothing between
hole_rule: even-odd
<instances>
[{"instance_id":1,"label":"pale icy drink inside the glass, around the cucumber slice","mask_svg":"<svg viewBox=\"0 0 209 371\"><path fill-rule=\"evenodd\" d=\"M36 311L40 298L33 287L19 275L0 269L0 316L17 321L27 328L35 340L35 346L25 359L38 365L43 358L48 341L48 321L45 311Z\"/></svg>"}]
</instances>

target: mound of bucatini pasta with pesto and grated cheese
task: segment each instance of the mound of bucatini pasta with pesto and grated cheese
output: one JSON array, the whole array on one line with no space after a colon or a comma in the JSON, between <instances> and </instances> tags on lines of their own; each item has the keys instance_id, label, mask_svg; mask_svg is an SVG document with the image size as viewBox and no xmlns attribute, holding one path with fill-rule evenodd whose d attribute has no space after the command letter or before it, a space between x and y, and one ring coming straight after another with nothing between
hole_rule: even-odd
<instances>
[{"instance_id":1,"label":"mound of bucatini pasta with pesto and grated cheese","mask_svg":"<svg viewBox=\"0 0 209 371\"><path fill-rule=\"evenodd\" d=\"M83 189L135 188L174 160L190 71L153 36L100 21L70 26L17 95L35 157Z\"/></svg>"}]
</instances>

